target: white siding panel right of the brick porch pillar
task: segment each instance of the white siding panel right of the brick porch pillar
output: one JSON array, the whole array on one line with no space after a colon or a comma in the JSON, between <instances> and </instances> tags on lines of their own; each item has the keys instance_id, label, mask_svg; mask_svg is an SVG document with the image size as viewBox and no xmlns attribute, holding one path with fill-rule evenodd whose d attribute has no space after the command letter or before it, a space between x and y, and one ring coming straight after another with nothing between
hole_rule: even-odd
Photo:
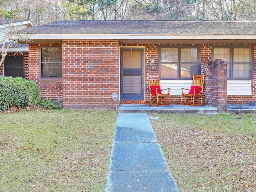
<instances>
[{"instance_id":1,"label":"white siding panel right of the brick porch pillar","mask_svg":"<svg viewBox=\"0 0 256 192\"><path fill-rule=\"evenodd\" d=\"M250 81L227 81L227 95L252 95Z\"/></svg>"}]
</instances>

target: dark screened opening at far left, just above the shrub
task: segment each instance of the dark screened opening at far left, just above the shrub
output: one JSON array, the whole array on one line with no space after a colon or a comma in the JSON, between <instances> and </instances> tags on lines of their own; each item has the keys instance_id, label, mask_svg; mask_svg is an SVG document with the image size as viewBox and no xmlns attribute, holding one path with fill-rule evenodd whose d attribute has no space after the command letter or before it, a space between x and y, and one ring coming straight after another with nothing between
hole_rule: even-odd
<instances>
[{"instance_id":1,"label":"dark screened opening at far left, just above the shrub","mask_svg":"<svg viewBox=\"0 0 256 192\"><path fill-rule=\"evenodd\" d=\"M6 56L4 75L24 78L24 56Z\"/></svg>"}]
</instances>

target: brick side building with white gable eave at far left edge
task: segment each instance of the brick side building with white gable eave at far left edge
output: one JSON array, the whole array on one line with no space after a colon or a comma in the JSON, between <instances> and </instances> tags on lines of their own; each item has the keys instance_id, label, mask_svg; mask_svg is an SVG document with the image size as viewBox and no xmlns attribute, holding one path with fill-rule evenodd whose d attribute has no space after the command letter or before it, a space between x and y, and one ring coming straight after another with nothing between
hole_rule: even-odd
<instances>
[{"instance_id":1,"label":"brick side building with white gable eave at far left edge","mask_svg":"<svg viewBox=\"0 0 256 192\"><path fill-rule=\"evenodd\" d=\"M11 20L0 20L0 48L2 48L2 40L10 22ZM26 29L32 26L33 24L29 20L14 20L9 31ZM0 66L0 76L19 76L28 79L28 44L19 44L6 40L6 44L10 42L11 46L7 50L8 54L4 63Z\"/></svg>"}]
</instances>

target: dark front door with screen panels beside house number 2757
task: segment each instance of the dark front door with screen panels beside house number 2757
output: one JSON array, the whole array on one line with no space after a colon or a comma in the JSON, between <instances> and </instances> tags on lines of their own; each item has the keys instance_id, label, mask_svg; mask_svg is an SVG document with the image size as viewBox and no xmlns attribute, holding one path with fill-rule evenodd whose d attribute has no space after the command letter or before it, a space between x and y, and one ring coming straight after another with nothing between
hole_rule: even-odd
<instances>
[{"instance_id":1,"label":"dark front door with screen panels beside house number 2757","mask_svg":"<svg viewBox=\"0 0 256 192\"><path fill-rule=\"evenodd\" d=\"M120 48L120 99L144 100L144 48Z\"/></svg>"}]
</instances>

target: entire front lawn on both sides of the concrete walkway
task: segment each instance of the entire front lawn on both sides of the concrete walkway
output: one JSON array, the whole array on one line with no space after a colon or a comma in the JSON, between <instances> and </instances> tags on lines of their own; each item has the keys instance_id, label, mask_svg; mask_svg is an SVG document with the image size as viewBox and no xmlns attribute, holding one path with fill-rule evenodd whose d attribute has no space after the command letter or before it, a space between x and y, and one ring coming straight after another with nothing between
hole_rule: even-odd
<instances>
[{"instance_id":1,"label":"entire front lawn on both sides of the concrete walkway","mask_svg":"<svg viewBox=\"0 0 256 192\"><path fill-rule=\"evenodd\" d=\"M180 192L256 192L256 115L148 114ZM0 191L104 192L117 113L0 114Z\"/></svg>"}]
</instances>

